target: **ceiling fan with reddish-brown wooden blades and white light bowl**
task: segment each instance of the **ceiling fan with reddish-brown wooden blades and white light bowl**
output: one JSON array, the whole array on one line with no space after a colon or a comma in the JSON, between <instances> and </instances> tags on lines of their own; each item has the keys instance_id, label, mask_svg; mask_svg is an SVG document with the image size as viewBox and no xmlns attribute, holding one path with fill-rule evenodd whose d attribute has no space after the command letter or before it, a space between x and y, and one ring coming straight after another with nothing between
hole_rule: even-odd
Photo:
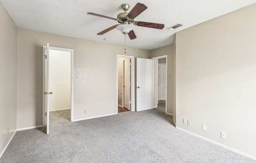
<instances>
[{"instance_id":1,"label":"ceiling fan with reddish-brown wooden blades and white light bowl","mask_svg":"<svg viewBox=\"0 0 256 163\"><path fill-rule=\"evenodd\" d=\"M108 18L112 20L116 20L119 22L119 24L113 25L112 27L109 27L108 29L105 29L104 31L101 31L100 33L97 33L98 35L105 34L113 29L117 29L121 31L123 34L128 34L130 39L133 40L137 38L133 31L133 25L140 26L140 27L148 27L148 28L154 28L154 29L163 29L165 27L164 24L158 24L158 23L150 23L150 22L141 22L141 21L134 21L134 18L136 18L139 14L141 14L143 11L145 11L148 7L146 5L137 3L133 9L128 13L128 9L130 8L130 5L128 4L122 4L122 9L124 10L124 13L120 13L117 15L117 18L112 18L109 16L104 16L101 14L95 14L95 13L87 13L94 16L100 16L103 18Z\"/></svg>"}]
</instances>

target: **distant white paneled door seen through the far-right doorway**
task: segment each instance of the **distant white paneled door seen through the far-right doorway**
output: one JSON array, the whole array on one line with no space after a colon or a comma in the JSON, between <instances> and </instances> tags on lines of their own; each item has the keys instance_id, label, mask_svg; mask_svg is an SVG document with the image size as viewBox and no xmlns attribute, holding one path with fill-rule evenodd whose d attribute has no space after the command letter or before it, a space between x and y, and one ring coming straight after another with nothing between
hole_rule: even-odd
<instances>
[{"instance_id":1,"label":"distant white paneled door seen through the far-right doorway","mask_svg":"<svg viewBox=\"0 0 256 163\"><path fill-rule=\"evenodd\" d=\"M166 64L159 64L159 100L166 100Z\"/></svg>"}]
</instances>

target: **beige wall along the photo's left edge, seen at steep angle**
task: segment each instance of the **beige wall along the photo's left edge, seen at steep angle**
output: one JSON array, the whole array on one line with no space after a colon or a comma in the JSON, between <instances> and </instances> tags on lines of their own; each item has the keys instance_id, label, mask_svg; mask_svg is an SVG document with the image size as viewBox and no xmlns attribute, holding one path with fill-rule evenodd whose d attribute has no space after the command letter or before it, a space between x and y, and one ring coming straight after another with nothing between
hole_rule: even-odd
<instances>
[{"instance_id":1,"label":"beige wall along the photo's left edge, seen at steep angle","mask_svg":"<svg viewBox=\"0 0 256 163\"><path fill-rule=\"evenodd\" d=\"M0 2L0 154L16 130L16 26ZM7 129L9 127L9 135Z\"/></svg>"}]
</instances>

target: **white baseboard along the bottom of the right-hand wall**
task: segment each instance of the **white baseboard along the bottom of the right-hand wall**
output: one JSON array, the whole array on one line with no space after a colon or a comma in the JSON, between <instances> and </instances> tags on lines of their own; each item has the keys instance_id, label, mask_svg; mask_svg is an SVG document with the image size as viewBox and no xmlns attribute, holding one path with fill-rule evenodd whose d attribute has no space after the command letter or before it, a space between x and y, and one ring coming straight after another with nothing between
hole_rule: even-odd
<instances>
[{"instance_id":1,"label":"white baseboard along the bottom of the right-hand wall","mask_svg":"<svg viewBox=\"0 0 256 163\"><path fill-rule=\"evenodd\" d=\"M220 147L223 147L223 148L225 148L225 149L228 149L228 150L231 150L231 151L236 152L236 153L238 153L238 154L241 154L241 155L243 155L243 156L245 156L245 157L248 157L248 158L251 158L251 159L256 160L256 156L252 156L251 154L247 154L247 153L245 153L245 152L242 152L241 150L234 149L234 148L229 147L229 146L227 146L227 145L225 145L225 144L219 143L218 141L214 141L214 140L212 140L212 139L205 138L205 137L203 137L203 136L201 136L201 135L198 135L198 134L196 134L196 133L194 133L194 132L188 131L188 130L186 130L186 129L182 129L181 127L176 127L176 128L179 129L179 130L181 130L181 131L187 132L188 134L191 134L191 135L193 135L193 136L196 136L197 138L200 138L200 139L209 141L210 143L213 143L213 144L218 145L218 146L220 146Z\"/></svg>"}]
</instances>

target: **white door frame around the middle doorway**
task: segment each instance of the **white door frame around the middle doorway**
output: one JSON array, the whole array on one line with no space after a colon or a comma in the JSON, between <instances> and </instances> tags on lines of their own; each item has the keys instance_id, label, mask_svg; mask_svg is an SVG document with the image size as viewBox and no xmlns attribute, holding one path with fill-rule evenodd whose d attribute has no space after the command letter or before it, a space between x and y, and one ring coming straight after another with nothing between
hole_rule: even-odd
<instances>
[{"instance_id":1,"label":"white door frame around the middle doorway","mask_svg":"<svg viewBox=\"0 0 256 163\"><path fill-rule=\"evenodd\" d=\"M130 106L130 110L131 111L135 111L135 78L134 78L134 56L132 55L123 55L123 54L117 54L117 58L116 58L116 69L117 69L117 75L116 75L116 113L118 114L118 57L126 57L126 58L130 58L131 59L131 106ZM123 82L123 80L122 80ZM122 89L123 90L123 89ZM122 94L123 96L123 94Z\"/></svg>"}]
</instances>

